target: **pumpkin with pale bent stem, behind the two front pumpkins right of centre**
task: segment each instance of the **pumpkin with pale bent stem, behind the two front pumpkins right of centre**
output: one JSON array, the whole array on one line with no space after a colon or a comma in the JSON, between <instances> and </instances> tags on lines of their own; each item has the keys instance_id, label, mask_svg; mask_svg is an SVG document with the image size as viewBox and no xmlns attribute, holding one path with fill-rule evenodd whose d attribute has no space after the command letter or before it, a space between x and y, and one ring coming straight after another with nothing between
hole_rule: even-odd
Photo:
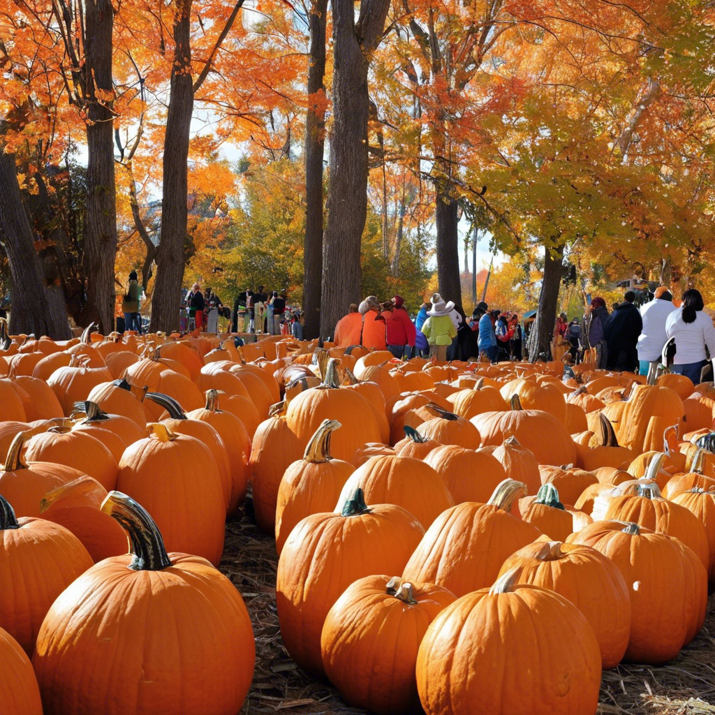
<instances>
[{"instance_id":1,"label":"pumpkin with pale bent stem, behind the two front pumpkins right of centre","mask_svg":"<svg viewBox=\"0 0 715 715\"><path fill-rule=\"evenodd\" d=\"M493 583L508 556L541 532L509 511L526 487L505 479L485 504L464 502L444 511L410 557L403 578L436 583L463 596Z\"/></svg>"}]
</instances>

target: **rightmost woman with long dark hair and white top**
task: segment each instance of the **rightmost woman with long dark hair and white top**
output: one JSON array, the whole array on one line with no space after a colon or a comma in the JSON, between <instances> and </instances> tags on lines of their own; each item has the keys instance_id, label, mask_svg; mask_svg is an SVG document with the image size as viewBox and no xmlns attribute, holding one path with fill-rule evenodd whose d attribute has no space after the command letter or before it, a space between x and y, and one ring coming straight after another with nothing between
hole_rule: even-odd
<instances>
[{"instance_id":1,"label":"rightmost woman with long dark hair and white top","mask_svg":"<svg viewBox=\"0 0 715 715\"><path fill-rule=\"evenodd\" d=\"M676 347L671 370L690 378L694 385L701 382L708 360L715 358L715 327L703 309L703 297L691 288L683 295L683 307L666 320L666 336L675 339Z\"/></svg>"}]
</instances>

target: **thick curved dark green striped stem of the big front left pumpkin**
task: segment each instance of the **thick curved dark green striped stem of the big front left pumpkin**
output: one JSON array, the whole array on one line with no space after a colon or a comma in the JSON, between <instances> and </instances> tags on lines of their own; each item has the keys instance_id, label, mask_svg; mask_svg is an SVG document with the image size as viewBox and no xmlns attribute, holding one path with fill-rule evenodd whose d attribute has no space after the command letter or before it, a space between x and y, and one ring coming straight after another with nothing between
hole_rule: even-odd
<instances>
[{"instance_id":1,"label":"thick curved dark green striped stem of the big front left pumpkin","mask_svg":"<svg viewBox=\"0 0 715 715\"><path fill-rule=\"evenodd\" d=\"M102 511L119 523L129 538L133 571L162 571L172 561L164 548L164 539L149 513L131 497L111 491L102 502Z\"/></svg>"}]
</instances>

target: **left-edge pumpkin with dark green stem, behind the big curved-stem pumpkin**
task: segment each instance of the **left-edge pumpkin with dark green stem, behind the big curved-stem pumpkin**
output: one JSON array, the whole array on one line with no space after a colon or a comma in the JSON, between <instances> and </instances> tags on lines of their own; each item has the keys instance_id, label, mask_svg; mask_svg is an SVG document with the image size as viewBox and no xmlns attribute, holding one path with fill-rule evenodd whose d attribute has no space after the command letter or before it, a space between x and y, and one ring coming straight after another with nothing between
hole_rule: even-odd
<instances>
[{"instance_id":1,"label":"left-edge pumpkin with dark green stem, behind the big curved-stem pumpkin","mask_svg":"<svg viewBox=\"0 0 715 715\"><path fill-rule=\"evenodd\" d=\"M59 594L92 566L79 539L51 521L17 519L0 496L0 628L32 655L42 619Z\"/></svg>"}]
</instances>

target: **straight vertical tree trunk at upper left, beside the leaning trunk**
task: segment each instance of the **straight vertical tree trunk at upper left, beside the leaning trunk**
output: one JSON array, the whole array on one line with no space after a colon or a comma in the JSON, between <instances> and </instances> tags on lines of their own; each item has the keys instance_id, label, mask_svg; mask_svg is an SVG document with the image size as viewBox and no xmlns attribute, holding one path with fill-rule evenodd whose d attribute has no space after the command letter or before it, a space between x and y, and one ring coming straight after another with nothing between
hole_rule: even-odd
<instances>
[{"instance_id":1,"label":"straight vertical tree trunk at upper left, beside the leaning trunk","mask_svg":"<svg viewBox=\"0 0 715 715\"><path fill-rule=\"evenodd\" d=\"M117 256L117 201L114 189L114 114L97 91L111 96L112 28L110 0L87 0L86 87L87 110L87 224L84 230L87 302L99 330L114 330L114 258Z\"/></svg>"}]
</instances>

